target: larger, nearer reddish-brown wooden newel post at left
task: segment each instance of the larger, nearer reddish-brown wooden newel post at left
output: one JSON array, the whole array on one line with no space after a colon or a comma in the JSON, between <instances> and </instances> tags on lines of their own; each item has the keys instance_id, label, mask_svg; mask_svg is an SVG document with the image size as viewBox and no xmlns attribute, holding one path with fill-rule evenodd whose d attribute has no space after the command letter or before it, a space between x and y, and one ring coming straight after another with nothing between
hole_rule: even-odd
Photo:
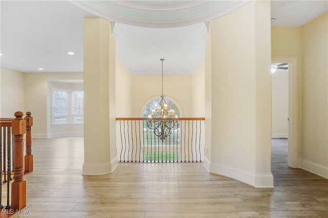
<instances>
[{"instance_id":1,"label":"larger, nearer reddish-brown wooden newel post at left","mask_svg":"<svg viewBox=\"0 0 328 218\"><path fill-rule=\"evenodd\" d=\"M14 182L11 184L11 208L20 210L26 207L26 181L24 180L24 146L23 135L26 132L26 121L23 112L15 112L11 122L14 135Z\"/></svg>"}]
</instances>

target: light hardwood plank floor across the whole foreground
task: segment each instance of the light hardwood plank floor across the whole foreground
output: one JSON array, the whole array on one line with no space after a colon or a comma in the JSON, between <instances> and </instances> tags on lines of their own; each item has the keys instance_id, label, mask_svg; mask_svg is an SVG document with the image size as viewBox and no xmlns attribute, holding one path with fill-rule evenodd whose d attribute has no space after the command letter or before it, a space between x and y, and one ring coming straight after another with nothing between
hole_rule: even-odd
<instances>
[{"instance_id":1,"label":"light hardwood plank floor across the whole foreground","mask_svg":"<svg viewBox=\"0 0 328 218\"><path fill-rule=\"evenodd\" d=\"M273 140L275 188L255 189L208 173L202 163L120 163L81 175L83 137L33 140L27 207L11 217L328 217L328 180L286 164Z\"/></svg>"}]
</instances>

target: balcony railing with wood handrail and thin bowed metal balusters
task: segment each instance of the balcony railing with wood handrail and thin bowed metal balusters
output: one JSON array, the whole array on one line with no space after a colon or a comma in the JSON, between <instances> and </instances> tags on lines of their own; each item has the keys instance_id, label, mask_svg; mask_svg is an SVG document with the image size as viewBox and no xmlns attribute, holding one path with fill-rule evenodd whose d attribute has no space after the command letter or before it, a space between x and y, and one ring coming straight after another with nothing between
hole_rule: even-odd
<instances>
[{"instance_id":1,"label":"balcony railing with wood handrail and thin bowed metal balusters","mask_svg":"<svg viewBox=\"0 0 328 218\"><path fill-rule=\"evenodd\" d=\"M117 157L119 162L201 162L204 150L203 117L116 118ZM149 128L159 122L176 122L171 134L158 137Z\"/></svg>"}]
</instances>

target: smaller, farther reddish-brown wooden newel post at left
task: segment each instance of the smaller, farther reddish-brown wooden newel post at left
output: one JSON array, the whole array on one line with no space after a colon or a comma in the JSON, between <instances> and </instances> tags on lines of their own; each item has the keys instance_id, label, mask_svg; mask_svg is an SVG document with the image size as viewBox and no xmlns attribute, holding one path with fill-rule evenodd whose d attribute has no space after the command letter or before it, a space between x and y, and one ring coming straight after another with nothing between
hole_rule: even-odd
<instances>
[{"instance_id":1,"label":"smaller, farther reddish-brown wooden newel post at left","mask_svg":"<svg viewBox=\"0 0 328 218\"><path fill-rule=\"evenodd\" d=\"M26 155L24 158L25 161L25 173L33 171L33 155L32 155L32 137L31 137L31 126L33 126L33 117L31 112L26 112L25 116L26 121Z\"/></svg>"}]
</instances>

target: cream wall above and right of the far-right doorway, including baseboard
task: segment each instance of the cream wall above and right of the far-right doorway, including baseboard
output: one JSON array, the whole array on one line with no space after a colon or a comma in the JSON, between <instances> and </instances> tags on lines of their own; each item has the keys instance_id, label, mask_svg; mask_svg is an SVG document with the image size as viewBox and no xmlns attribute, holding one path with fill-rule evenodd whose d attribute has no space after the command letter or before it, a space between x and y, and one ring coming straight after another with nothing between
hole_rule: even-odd
<instances>
[{"instance_id":1,"label":"cream wall above and right of the far-right doorway, including baseboard","mask_svg":"<svg viewBox=\"0 0 328 218\"><path fill-rule=\"evenodd\" d=\"M303 27L272 27L272 56L297 57L298 166L328 177L327 12Z\"/></svg>"}]
</instances>

